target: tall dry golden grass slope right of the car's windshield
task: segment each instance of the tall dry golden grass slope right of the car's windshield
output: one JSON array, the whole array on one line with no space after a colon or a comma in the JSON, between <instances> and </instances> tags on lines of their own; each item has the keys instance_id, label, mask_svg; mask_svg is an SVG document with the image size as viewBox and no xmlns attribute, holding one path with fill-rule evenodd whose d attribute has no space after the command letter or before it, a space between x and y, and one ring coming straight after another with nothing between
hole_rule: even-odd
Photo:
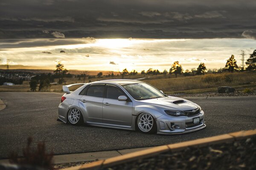
<instances>
[{"instance_id":1,"label":"tall dry golden grass slope right of the car's windshield","mask_svg":"<svg viewBox=\"0 0 256 170\"><path fill-rule=\"evenodd\" d=\"M256 89L255 72L207 74L192 77L180 76L177 78L145 79L143 81L148 82L159 90L166 92L166 94L216 91L218 86L225 85L239 89Z\"/></svg>"}]
</instances>

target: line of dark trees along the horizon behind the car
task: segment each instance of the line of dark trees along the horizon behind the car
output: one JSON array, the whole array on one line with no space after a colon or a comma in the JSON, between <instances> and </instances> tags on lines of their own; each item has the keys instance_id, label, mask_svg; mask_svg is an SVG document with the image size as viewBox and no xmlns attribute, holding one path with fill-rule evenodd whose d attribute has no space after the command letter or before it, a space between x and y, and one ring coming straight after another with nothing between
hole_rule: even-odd
<instances>
[{"instance_id":1,"label":"line of dark trees along the horizon behind the car","mask_svg":"<svg viewBox=\"0 0 256 170\"><path fill-rule=\"evenodd\" d=\"M160 72L158 69L153 69L149 68L147 71L143 70L141 71L140 74L147 74L147 75L158 75L158 74L175 74L175 77L177 77L178 74L183 74L184 76L195 76L195 75L202 75L206 71L208 73L221 73L223 71L256 71L256 50L253 51L252 54L250 54L250 57L247 59L245 62L247 67L246 68L241 68L237 65L236 59L234 55L231 55L229 59L227 59L226 65L222 69L213 69L213 70L208 70L206 68L206 65L204 62L201 62L198 65L198 68L192 68L190 71L187 69L186 71L183 70L182 65L179 63L179 61L175 61L169 71L166 69L163 72ZM38 91L44 91L45 89L49 88L51 86L51 83L54 82L54 79L58 79L58 84L61 85L65 82L64 78L71 78L73 77L72 74L67 73L68 70L64 68L64 65L61 62L58 62L57 65L55 65L56 69L53 71L53 74L48 73L48 74L40 74L36 75L35 77L32 77L31 81L29 82L31 91L36 91L38 84ZM122 76L122 79L126 75L136 75L138 74L137 71L132 70L129 72L126 68L123 69L123 71L119 71L119 75ZM102 72L99 72L96 76L91 76L88 74L88 71L84 71L82 74L75 75L79 80L83 80L85 82L85 79L88 77L88 79L91 78L100 78L103 76ZM114 77L115 75L113 72L110 72L108 75L105 75L105 77Z\"/></svg>"}]
</instances>

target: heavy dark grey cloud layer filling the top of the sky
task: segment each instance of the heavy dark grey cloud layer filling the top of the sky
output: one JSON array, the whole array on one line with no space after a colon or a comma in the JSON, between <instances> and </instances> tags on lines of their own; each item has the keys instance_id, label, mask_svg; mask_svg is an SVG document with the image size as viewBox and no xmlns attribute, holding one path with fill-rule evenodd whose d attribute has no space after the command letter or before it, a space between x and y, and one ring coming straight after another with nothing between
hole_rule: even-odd
<instances>
[{"instance_id":1,"label":"heavy dark grey cloud layer filling the top of the sky","mask_svg":"<svg viewBox=\"0 0 256 170\"><path fill-rule=\"evenodd\" d=\"M256 31L255 8L255 0L3 0L0 38L241 38Z\"/></svg>"}]
</instances>

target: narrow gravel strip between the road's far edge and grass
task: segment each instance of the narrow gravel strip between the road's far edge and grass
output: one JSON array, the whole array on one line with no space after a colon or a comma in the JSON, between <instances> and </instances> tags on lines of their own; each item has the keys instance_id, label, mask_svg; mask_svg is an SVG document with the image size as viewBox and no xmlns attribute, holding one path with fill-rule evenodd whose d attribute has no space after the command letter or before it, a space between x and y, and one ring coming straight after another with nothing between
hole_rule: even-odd
<instances>
[{"instance_id":1,"label":"narrow gravel strip between the road's far edge and grass","mask_svg":"<svg viewBox=\"0 0 256 170\"><path fill-rule=\"evenodd\" d=\"M201 94L169 94L175 97L228 97L228 96L256 96L256 92L243 93L242 91L235 91L235 93L201 93Z\"/></svg>"}]
</instances>

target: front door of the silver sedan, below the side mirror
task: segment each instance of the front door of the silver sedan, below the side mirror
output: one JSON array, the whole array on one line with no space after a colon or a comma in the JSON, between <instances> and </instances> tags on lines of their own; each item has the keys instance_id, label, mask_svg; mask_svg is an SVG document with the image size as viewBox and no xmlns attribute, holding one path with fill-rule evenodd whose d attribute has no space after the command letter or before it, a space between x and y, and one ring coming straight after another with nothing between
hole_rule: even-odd
<instances>
[{"instance_id":1,"label":"front door of the silver sedan, below the side mirror","mask_svg":"<svg viewBox=\"0 0 256 170\"><path fill-rule=\"evenodd\" d=\"M106 96L103 99L103 123L131 126L132 102L129 98L127 101L119 101L119 96L127 95L114 85L106 85Z\"/></svg>"}]
</instances>

